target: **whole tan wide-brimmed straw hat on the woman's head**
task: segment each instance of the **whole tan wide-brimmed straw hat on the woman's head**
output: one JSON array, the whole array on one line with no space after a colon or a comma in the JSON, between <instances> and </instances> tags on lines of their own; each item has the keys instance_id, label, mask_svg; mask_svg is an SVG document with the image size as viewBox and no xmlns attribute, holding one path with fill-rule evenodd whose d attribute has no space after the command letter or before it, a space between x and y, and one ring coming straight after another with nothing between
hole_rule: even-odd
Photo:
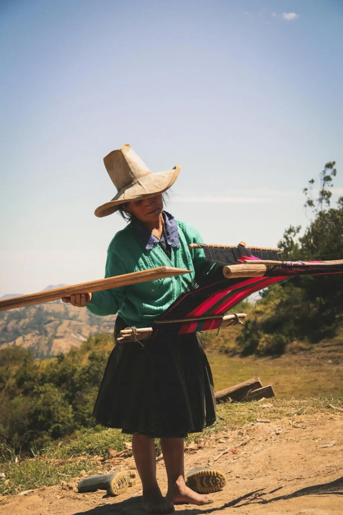
<instances>
[{"instance_id":1,"label":"whole tan wide-brimmed straw hat on the woman's head","mask_svg":"<svg viewBox=\"0 0 343 515\"><path fill-rule=\"evenodd\" d=\"M118 193L95 210L94 214L99 217L111 215L124 202L165 192L174 184L181 169L174 166L172 170L152 173L128 143L107 154L103 161Z\"/></svg>"}]
</instances>

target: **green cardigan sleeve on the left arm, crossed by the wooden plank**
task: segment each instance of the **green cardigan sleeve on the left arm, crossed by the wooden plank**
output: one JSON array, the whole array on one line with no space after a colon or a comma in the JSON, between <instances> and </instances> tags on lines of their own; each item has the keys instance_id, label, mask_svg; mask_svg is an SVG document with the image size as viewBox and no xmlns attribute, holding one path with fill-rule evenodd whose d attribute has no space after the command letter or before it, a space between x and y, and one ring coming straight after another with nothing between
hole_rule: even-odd
<instances>
[{"instance_id":1,"label":"green cardigan sleeve on the left arm, crossed by the wooden plank","mask_svg":"<svg viewBox=\"0 0 343 515\"><path fill-rule=\"evenodd\" d=\"M127 273L124 262L120 259L117 252L109 249L107 251L107 260L105 267L105 278L120 276ZM86 305L94 315L115 315L124 300L125 286L112 288L103 291L94 291L91 302Z\"/></svg>"}]
</instances>

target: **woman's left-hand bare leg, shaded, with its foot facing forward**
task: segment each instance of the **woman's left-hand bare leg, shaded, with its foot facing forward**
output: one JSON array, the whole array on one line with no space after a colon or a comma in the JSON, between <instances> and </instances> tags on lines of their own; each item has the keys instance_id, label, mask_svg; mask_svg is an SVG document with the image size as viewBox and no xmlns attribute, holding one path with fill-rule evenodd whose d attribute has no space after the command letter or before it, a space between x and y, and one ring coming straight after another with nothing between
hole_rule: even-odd
<instances>
[{"instance_id":1,"label":"woman's left-hand bare leg, shaded, with its foot facing forward","mask_svg":"<svg viewBox=\"0 0 343 515\"><path fill-rule=\"evenodd\" d=\"M161 494L157 484L155 440L133 435L132 450L143 485L143 508L148 513L172 513L173 504Z\"/></svg>"}]
</instances>

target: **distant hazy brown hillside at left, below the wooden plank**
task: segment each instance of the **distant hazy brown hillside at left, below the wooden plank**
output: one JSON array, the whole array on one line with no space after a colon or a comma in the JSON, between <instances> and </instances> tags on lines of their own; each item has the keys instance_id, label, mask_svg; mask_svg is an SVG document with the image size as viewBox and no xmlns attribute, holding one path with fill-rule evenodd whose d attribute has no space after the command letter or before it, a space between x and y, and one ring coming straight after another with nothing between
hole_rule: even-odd
<instances>
[{"instance_id":1,"label":"distant hazy brown hillside at left, below the wooden plank","mask_svg":"<svg viewBox=\"0 0 343 515\"><path fill-rule=\"evenodd\" d=\"M79 348L89 335L112 333L115 318L99 317L60 301L2 311L0 349L20 346L39 359L57 356L71 347Z\"/></svg>"}]
</instances>

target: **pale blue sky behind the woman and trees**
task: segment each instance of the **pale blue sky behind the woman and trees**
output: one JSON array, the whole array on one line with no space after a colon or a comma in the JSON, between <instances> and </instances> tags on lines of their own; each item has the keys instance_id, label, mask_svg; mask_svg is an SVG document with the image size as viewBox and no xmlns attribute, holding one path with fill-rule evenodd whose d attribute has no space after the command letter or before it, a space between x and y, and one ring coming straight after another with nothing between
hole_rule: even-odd
<instances>
[{"instance_id":1,"label":"pale blue sky behind the woman and trees","mask_svg":"<svg viewBox=\"0 0 343 515\"><path fill-rule=\"evenodd\" d=\"M208 243L276 245L336 160L338 0L3 1L0 296L103 277L123 227L102 159L183 166L168 210Z\"/></svg>"}]
</instances>

